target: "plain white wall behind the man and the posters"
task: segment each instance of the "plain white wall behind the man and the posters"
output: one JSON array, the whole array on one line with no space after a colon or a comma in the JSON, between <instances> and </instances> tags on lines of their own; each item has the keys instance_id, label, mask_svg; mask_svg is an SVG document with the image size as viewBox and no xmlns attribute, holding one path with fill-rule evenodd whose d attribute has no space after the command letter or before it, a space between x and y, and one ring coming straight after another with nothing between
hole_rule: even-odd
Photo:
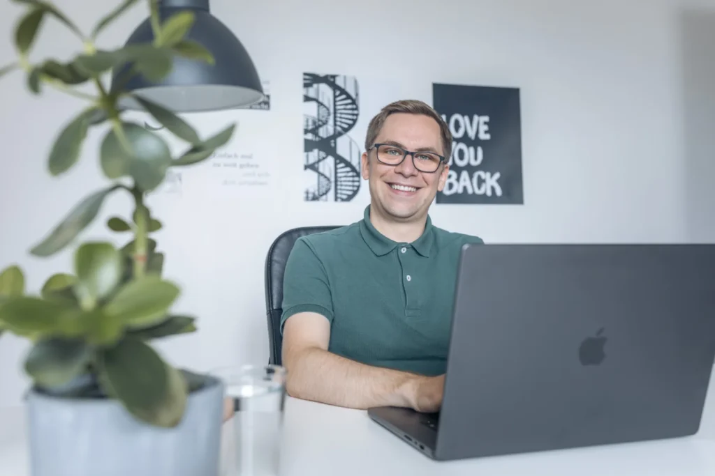
<instances>
[{"instance_id":1,"label":"plain white wall behind the man and the posters","mask_svg":"<svg viewBox=\"0 0 715 476\"><path fill-rule=\"evenodd\" d=\"M114 1L56 3L89 29ZM270 242L293 226L356 221L368 203L366 193L352 203L302 201L303 71L384 81L393 85L389 100L429 101L432 81L521 88L526 205L435 206L438 226L489 242L715 239L713 0L212 0L212 8L270 80L272 110L189 120L204 133L240 121L228 149L256 148L272 185L221 187L215 171L200 168L187 173L180 196L154 197L165 272L184 288L177 310L200 317L199 333L162 343L178 365L265 362ZM0 2L2 64L14 57L17 12ZM134 9L104 46L119 45L143 16L144 6ZM72 45L48 22L35 57L66 56ZM415 82L423 77L427 88ZM38 290L51 273L69 270L71 250L47 260L26 252L104 183L100 136L90 136L77 168L51 179L51 140L79 102L54 92L35 98L14 74L0 81L0 104L0 266L20 263ZM112 198L83 238L106 238L104 219L127 216L128 204ZM0 339L0 405L19 402L25 350Z\"/></svg>"}]
</instances>

